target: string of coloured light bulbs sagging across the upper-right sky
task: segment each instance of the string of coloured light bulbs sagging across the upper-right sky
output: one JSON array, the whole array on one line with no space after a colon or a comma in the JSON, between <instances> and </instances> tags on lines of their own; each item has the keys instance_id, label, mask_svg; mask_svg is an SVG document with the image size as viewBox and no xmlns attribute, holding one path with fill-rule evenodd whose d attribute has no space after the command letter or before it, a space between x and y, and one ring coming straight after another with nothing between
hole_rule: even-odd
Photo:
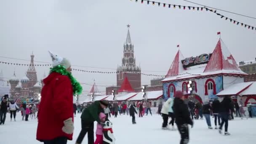
<instances>
[{"instance_id":1,"label":"string of coloured light bulbs sagging across the upper-right sky","mask_svg":"<svg viewBox=\"0 0 256 144\"><path fill-rule=\"evenodd\" d=\"M155 1L151 1L151 0L140 0L141 3L143 4L144 2L146 2L148 5L150 3L152 3L152 5L158 5L158 6L163 6L163 8L167 7L167 8L173 8L173 9L183 9L183 10L197 10L197 11L210 11L210 12L213 12L213 13L216 13L217 16L220 16L221 19L225 19L225 20L229 20L231 23L233 24L237 24L237 25L241 25L242 27L245 27L245 28L248 28L248 29L251 29L251 30L256 30L256 27L255 26L251 26L249 24L245 24L244 22L240 22L240 21L237 21L235 19L232 19L232 18L229 18L227 16L224 16L220 13L217 13L217 10L213 10L213 9L209 9L208 7L204 6L204 7L195 7L195 6L186 6L186 5L174 5L174 4L168 4L168 3L160 3L160 2L155 2ZM138 2L138 0L135 0L135 2Z\"/></svg>"}]
</instances>

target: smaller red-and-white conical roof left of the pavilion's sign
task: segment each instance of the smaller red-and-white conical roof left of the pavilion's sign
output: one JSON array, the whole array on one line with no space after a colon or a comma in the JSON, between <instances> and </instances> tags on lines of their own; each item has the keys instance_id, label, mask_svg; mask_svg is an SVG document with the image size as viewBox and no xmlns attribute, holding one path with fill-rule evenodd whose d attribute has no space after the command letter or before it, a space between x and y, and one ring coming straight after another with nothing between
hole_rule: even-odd
<instances>
[{"instance_id":1,"label":"smaller red-and-white conical roof left of the pavilion's sign","mask_svg":"<svg viewBox=\"0 0 256 144\"><path fill-rule=\"evenodd\" d=\"M166 75L166 77L171 77L173 75L178 75L179 72L184 71L184 68L182 66L181 60L184 59L182 56L181 51L179 50L173 60L173 63L171 64L171 67Z\"/></svg>"}]
</instances>

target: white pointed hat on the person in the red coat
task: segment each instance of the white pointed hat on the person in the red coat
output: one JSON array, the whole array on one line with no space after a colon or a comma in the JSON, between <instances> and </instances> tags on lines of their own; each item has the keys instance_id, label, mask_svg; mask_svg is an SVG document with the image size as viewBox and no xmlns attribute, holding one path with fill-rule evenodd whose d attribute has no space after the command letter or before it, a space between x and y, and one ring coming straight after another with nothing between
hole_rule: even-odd
<instances>
[{"instance_id":1,"label":"white pointed hat on the person in the red coat","mask_svg":"<svg viewBox=\"0 0 256 144\"><path fill-rule=\"evenodd\" d=\"M58 65L64 66L66 69L71 66L71 63L68 59L62 58L56 54L53 54L51 51L48 51L50 53L51 59L53 61L53 67L56 67Z\"/></svg>"}]
</instances>

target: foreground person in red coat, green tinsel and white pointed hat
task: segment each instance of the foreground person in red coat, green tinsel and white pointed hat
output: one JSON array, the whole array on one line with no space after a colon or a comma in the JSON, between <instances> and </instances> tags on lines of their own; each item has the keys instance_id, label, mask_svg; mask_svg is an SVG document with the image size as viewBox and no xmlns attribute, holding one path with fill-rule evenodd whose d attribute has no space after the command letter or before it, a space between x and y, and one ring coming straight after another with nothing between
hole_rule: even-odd
<instances>
[{"instance_id":1,"label":"foreground person in red coat, green tinsel and white pointed hat","mask_svg":"<svg viewBox=\"0 0 256 144\"><path fill-rule=\"evenodd\" d=\"M73 96L83 88L71 74L66 58L50 53L53 67L43 80L38 111L37 140L45 144L67 144L74 131Z\"/></svg>"}]
</instances>

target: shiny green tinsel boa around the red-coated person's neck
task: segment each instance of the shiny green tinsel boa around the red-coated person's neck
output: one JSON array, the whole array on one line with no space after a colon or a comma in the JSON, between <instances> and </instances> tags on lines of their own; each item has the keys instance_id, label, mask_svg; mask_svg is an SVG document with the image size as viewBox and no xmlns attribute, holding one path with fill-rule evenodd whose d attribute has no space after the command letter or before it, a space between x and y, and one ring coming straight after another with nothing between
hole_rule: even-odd
<instances>
[{"instance_id":1,"label":"shiny green tinsel boa around the red-coated person's neck","mask_svg":"<svg viewBox=\"0 0 256 144\"><path fill-rule=\"evenodd\" d=\"M80 85L80 83L77 82L77 80L72 76L72 74L70 72L67 71L67 69L64 66L58 65L56 67L51 67L50 68L50 74L52 72L57 72L61 75L66 75L69 77L72 87L73 87L73 95L79 95L82 93L83 88Z\"/></svg>"}]
</instances>

